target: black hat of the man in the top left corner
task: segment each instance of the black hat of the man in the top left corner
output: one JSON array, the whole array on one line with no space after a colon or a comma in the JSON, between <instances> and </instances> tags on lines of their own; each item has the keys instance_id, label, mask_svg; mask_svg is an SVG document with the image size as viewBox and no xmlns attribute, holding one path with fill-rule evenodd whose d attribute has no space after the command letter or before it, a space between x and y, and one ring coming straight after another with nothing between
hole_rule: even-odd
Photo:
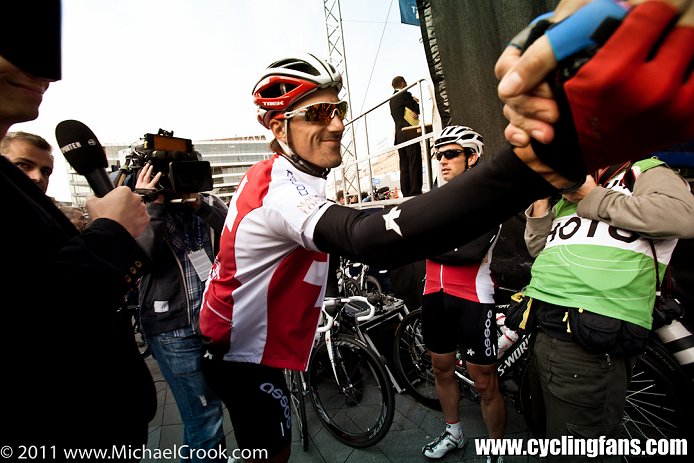
<instances>
[{"instance_id":1,"label":"black hat of the man in the top left corner","mask_svg":"<svg viewBox=\"0 0 694 463\"><path fill-rule=\"evenodd\" d=\"M60 80L60 0L2 3L0 55L34 77Z\"/></svg>"}]
</instances>

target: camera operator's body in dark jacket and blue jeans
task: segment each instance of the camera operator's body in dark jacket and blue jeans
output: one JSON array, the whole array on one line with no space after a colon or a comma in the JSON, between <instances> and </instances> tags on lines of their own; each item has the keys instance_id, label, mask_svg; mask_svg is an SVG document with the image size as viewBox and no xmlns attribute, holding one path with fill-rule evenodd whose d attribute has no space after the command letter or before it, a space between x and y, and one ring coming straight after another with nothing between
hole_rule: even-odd
<instances>
[{"instance_id":1,"label":"camera operator's body in dark jacket and blue jeans","mask_svg":"<svg viewBox=\"0 0 694 463\"><path fill-rule=\"evenodd\" d=\"M147 204L151 227L141 242L152 258L152 271L140 282L142 329L176 399L183 444L191 450L225 449L222 402L201 370L198 319L227 207L207 193L176 193L162 187L170 185L161 181L165 175L155 173L155 166L147 162L135 185L138 191L153 191L147 195L153 198ZM194 456L190 461L198 461Z\"/></svg>"}]
</instances>

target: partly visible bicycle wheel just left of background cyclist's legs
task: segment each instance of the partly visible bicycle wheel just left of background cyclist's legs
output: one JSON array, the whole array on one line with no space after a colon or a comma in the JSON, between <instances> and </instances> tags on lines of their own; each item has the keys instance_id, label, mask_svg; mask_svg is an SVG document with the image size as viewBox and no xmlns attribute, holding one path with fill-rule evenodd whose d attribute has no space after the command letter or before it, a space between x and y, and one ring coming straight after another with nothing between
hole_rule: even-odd
<instances>
[{"instance_id":1,"label":"partly visible bicycle wheel just left of background cyclist's legs","mask_svg":"<svg viewBox=\"0 0 694 463\"><path fill-rule=\"evenodd\" d=\"M395 371L414 400L435 410L441 410L436 393L436 378L431 355L422 338L422 309L405 315L395 331L393 345Z\"/></svg>"}]
</instances>

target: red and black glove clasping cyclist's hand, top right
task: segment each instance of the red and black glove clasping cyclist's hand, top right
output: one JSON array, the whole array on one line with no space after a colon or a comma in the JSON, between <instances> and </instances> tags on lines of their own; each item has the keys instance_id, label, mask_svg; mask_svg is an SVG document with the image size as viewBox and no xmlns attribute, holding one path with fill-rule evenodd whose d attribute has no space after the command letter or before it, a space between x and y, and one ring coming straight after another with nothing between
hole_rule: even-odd
<instances>
[{"instance_id":1,"label":"red and black glove clasping cyclist's hand, top right","mask_svg":"<svg viewBox=\"0 0 694 463\"><path fill-rule=\"evenodd\" d=\"M588 172L694 139L694 28L675 27L677 14L664 2L636 6L565 82Z\"/></svg>"}]
</instances>

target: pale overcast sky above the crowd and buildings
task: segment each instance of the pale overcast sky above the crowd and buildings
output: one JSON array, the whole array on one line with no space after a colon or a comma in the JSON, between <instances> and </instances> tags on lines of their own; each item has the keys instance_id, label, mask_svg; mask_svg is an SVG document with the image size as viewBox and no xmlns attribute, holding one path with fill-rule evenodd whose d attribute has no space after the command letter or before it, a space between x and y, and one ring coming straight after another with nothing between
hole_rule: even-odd
<instances>
[{"instance_id":1,"label":"pale overcast sky above the crowd and buildings","mask_svg":"<svg viewBox=\"0 0 694 463\"><path fill-rule=\"evenodd\" d=\"M419 27L401 24L398 0L339 5L354 115L386 99L395 75L429 79ZM11 130L54 145L48 194L69 200L59 122L85 123L102 144L159 128L193 140L268 135L251 90L294 51L329 57L322 0L63 0L63 79L36 121ZM392 138L392 127L380 132L370 137Z\"/></svg>"}]
</instances>

